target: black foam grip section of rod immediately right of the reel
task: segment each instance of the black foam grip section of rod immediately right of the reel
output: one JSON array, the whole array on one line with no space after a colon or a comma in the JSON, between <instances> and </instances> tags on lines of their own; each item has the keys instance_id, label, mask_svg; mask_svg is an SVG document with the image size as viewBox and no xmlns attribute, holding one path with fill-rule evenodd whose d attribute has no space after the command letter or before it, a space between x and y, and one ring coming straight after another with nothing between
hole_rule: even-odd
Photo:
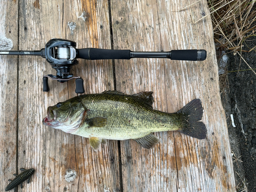
<instances>
[{"instance_id":1,"label":"black foam grip section of rod immediately right of the reel","mask_svg":"<svg viewBox=\"0 0 256 192\"><path fill-rule=\"evenodd\" d=\"M131 50L113 50L113 49L76 49L76 58L97 60L97 59L131 59Z\"/></svg>"}]
</instances>

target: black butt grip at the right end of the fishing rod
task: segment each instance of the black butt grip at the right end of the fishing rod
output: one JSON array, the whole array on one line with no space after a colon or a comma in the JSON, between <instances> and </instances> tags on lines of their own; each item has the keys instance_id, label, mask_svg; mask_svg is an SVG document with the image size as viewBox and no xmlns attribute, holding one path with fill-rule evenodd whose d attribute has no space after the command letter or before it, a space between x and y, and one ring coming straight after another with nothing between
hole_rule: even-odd
<instances>
[{"instance_id":1,"label":"black butt grip at the right end of the fishing rod","mask_svg":"<svg viewBox=\"0 0 256 192\"><path fill-rule=\"evenodd\" d=\"M170 59L172 60L205 60L207 52L205 50L172 50Z\"/></svg>"}]
</instances>

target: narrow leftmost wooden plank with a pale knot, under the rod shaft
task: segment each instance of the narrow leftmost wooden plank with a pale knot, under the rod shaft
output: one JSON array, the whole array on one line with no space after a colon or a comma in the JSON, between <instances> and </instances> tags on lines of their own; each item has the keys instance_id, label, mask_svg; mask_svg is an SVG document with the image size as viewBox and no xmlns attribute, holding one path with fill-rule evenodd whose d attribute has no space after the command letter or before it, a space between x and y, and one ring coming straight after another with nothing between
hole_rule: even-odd
<instances>
[{"instance_id":1,"label":"narrow leftmost wooden plank with a pale knot, under the rod shaft","mask_svg":"<svg viewBox=\"0 0 256 192\"><path fill-rule=\"evenodd\" d=\"M17 49L17 4L0 1L0 50ZM0 56L0 182L1 190L16 174L17 56Z\"/></svg>"}]
</instances>

